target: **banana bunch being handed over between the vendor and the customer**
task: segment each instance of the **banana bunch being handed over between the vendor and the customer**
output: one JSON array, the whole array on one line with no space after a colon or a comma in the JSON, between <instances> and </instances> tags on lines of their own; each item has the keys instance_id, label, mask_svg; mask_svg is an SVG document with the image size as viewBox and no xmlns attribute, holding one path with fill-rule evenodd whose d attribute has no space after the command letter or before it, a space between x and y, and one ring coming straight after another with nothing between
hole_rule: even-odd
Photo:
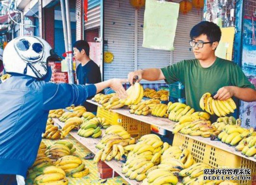
<instances>
[{"instance_id":1,"label":"banana bunch being handed over between the vendor and the customer","mask_svg":"<svg viewBox=\"0 0 256 185\"><path fill-rule=\"evenodd\" d=\"M131 85L126 90L128 97L126 99L120 100L121 104L124 104L126 106L129 105L137 105L141 102L143 98L143 87L140 85L140 83L135 82L134 85Z\"/></svg>"}]
</instances>

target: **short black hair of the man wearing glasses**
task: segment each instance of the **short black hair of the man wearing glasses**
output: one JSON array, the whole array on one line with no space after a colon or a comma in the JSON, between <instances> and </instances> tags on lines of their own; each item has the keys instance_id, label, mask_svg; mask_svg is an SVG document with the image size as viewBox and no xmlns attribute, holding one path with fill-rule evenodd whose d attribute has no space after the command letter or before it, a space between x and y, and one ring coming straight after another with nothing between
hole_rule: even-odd
<instances>
[{"instance_id":1,"label":"short black hair of the man wearing glasses","mask_svg":"<svg viewBox=\"0 0 256 185\"><path fill-rule=\"evenodd\" d=\"M199 35L204 34L210 42L219 42L221 37L220 27L213 22L202 21L195 25L190 31L190 38L199 37Z\"/></svg>"}]
</instances>

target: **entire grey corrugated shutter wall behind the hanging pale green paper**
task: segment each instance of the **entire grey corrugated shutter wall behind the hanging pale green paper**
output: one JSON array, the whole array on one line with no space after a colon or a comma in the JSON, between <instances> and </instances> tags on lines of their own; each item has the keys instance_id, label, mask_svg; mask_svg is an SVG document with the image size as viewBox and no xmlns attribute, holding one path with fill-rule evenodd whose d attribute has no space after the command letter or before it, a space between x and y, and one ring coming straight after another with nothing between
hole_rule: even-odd
<instances>
[{"instance_id":1,"label":"entire grey corrugated shutter wall behind the hanging pale green paper","mask_svg":"<svg viewBox=\"0 0 256 185\"><path fill-rule=\"evenodd\" d=\"M176 0L178 2L178 0ZM135 63L135 10L128 0L105 0L104 39L108 40L108 51L114 53L112 64L104 64L104 79L126 78L133 71ZM202 20L202 11L195 8L186 15L179 14L173 58L171 52L142 48L144 8L138 11L138 69L161 68L184 59L194 58L190 51L190 29ZM106 49L106 47L105 47ZM145 81L142 81L145 83ZM163 82L163 81L159 81Z\"/></svg>"}]
</instances>

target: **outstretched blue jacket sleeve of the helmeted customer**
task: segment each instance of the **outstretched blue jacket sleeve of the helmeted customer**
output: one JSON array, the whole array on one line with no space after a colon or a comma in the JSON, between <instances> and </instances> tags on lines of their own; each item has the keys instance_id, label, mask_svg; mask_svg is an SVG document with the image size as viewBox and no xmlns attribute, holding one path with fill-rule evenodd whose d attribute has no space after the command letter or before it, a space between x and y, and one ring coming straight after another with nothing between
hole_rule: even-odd
<instances>
[{"instance_id":1,"label":"outstretched blue jacket sleeve of the helmeted customer","mask_svg":"<svg viewBox=\"0 0 256 185\"><path fill-rule=\"evenodd\" d=\"M65 108L72 104L80 105L85 102L87 97L95 94L95 85L45 83L43 87L43 110Z\"/></svg>"}]
</instances>

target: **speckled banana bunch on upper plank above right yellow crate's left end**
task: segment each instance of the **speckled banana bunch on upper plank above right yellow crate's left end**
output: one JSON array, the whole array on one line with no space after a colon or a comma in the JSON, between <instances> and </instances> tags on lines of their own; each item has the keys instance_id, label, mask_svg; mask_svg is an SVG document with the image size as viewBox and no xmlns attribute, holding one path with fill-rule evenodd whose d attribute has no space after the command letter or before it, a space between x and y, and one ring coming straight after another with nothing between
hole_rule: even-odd
<instances>
[{"instance_id":1,"label":"speckled banana bunch on upper plank above right yellow crate's left end","mask_svg":"<svg viewBox=\"0 0 256 185\"><path fill-rule=\"evenodd\" d=\"M212 134L218 135L217 129L211 125L211 121L198 119L198 116L183 116L174 126L173 133L183 133L192 136L211 137Z\"/></svg>"}]
</instances>

